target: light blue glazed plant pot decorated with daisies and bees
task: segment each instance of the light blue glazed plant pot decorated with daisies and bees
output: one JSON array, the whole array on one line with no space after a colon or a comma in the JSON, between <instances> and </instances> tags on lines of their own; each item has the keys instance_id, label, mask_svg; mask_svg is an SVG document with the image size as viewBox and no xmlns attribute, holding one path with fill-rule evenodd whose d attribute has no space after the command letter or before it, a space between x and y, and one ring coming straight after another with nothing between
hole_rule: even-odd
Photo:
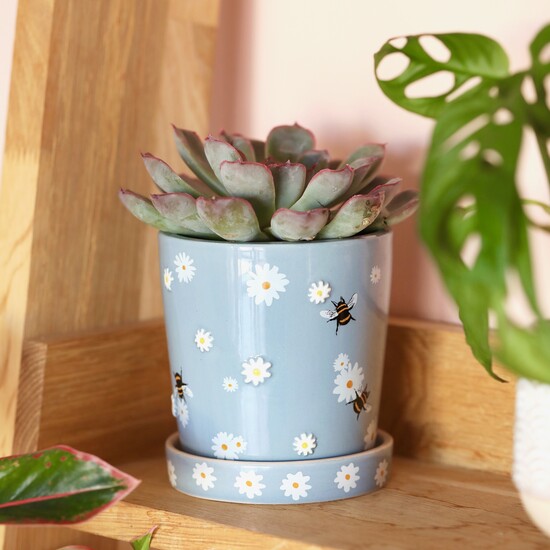
<instances>
[{"instance_id":1,"label":"light blue glazed plant pot decorated with daisies and bees","mask_svg":"<svg viewBox=\"0 0 550 550\"><path fill-rule=\"evenodd\" d=\"M160 234L172 400L184 451L241 461L299 461L358 453L374 445L391 240L391 233L385 233L341 241L233 244ZM179 254L185 255L185 271L175 263L182 265ZM267 291L261 286L266 278L262 273L271 284ZM317 304L308 291L319 281L332 291ZM271 305L261 301L277 287L278 298ZM357 302L350 313L355 321L339 325L336 334L337 322L327 321L321 311L335 310L331 300L343 297L349 302L354 294ZM206 335L207 351L195 343L199 330L213 338L208 346ZM334 363L340 354L348 356L350 366L337 384ZM271 367L270 376L254 385L242 371L243 363L256 358ZM186 384L180 388L183 397L175 385L176 373ZM338 402L334 390L344 391L346 376L356 387ZM226 391L225 378L236 381L238 389ZM357 417L347 402L365 384L368 410ZM170 406L170 396L166 398ZM311 454L297 452L302 434L312 436ZM223 445L229 454L224 455Z\"/></svg>"}]
</instances>

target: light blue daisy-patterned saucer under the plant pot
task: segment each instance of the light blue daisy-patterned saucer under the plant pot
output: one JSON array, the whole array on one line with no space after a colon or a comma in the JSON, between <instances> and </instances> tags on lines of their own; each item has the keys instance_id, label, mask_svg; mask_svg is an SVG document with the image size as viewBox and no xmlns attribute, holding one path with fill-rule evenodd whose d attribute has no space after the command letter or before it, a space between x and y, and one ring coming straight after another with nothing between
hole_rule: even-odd
<instances>
[{"instance_id":1,"label":"light blue daisy-patterned saucer under the plant pot","mask_svg":"<svg viewBox=\"0 0 550 550\"><path fill-rule=\"evenodd\" d=\"M393 439L378 432L368 451L289 462L218 460L181 451L177 434L166 441L168 478L188 495L250 504L301 504L364 495L389 477ZM248 483L247 483L248 482Z\"/></svg>"}]
</instances>

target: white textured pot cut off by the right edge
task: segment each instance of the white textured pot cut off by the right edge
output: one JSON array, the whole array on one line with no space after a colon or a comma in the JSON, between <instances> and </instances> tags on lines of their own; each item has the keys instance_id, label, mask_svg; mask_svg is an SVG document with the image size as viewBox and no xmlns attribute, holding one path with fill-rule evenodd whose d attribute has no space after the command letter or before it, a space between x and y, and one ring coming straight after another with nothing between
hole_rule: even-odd
<instances>
[{"instance_id":1,"label":"white textured pot cut off by the right edge","mask_svg":"<svg viewBox=\"0 0 550 550\"><path fill-rule=\"evenodd\" d=\"M513 478L533 522L550 536L550 385L520 379L516 389Z\"/></svg>"}]
</instances>

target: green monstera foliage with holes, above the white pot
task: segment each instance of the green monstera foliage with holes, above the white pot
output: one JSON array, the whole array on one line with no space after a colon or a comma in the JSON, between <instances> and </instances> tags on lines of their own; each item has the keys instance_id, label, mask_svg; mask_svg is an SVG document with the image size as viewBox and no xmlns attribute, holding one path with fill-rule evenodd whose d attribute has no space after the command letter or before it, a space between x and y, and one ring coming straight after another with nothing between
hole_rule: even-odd
<instances>
[{"instance_id":1,"label":"green monstera foliage with holes, above the white pot","mask_svg":"<svg viewBox=\"0 0 550 550\"><path fill-rule=\"evenodd\" d=\"M443 56L429 53L425 37L439 41ZM392 39L375 55L381 89L397 105L435 118L420 196L420 230L442 278L456 301L466 339L487 371L493 372L489 315L497 319L496 354L510 370L550 383L550 329L541 317L532 274L527 231L530 225L516 185L524 127L537 137L547 175L550 112L545 82L550 74L550 25L534 39L531 67L510 74L505 51L477 34L407 36ZM381 64L406 57L406 68L382 80ZM435 97L411 97L413 85L437 73L453 83ZM526 85L536 98L525 98ZM473 239L473 261L464 249ZM521 282L536 319L519 327L505 302L509 281ZM513 277L512 277L513 278Z\"/></svg>"}]
</instances>

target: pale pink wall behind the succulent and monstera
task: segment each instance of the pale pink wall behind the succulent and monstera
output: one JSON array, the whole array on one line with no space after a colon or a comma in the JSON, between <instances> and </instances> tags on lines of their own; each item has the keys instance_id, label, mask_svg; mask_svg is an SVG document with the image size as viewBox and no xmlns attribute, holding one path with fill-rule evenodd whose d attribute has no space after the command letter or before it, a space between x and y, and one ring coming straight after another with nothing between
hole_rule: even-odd
<instances>
[{"instance_id":1,"label":"pale pink wall behind the succulent and monstera","mask_svg":"<svg viewBox=\"0 0 550 550\"><path fill-rule=\"evenodd\" d=\"M212 131L263 138L272 126L297 121L335 156L369 140L387 142L384 172L415 187L432 124L383 96L373 54L392 36L480 32L505 44L512 68L521 68L531 37L547 20L548 0L222 0ZM533 153L531 140L522 178L531 196L547 198ZM548 240L538 246L548 250ZM539 278L549 280L548 264L539 266ZM392 313L457 321L414 220L395 231Z\"/></svg>"}]
</instances>

